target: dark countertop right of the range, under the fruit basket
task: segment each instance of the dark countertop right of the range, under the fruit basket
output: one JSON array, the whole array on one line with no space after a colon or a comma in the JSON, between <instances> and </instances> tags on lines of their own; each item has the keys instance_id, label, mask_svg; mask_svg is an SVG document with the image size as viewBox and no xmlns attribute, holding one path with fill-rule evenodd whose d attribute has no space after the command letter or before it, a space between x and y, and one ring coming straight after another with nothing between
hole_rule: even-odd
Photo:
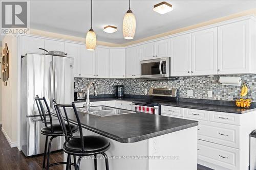
<instances>
[{"instance_id":1,"label":"dark countertop right of the range, under the fruit basket","mask_svg":"<svg viewBox=\"0 0 256 170\"><path fill-rule=\"evenodd\" d=\"M225 105L210 105L202 103L188 103L188 102L161 102L160 105L173 106L173 107L183 107L189 109L199 109L208 110L216 112L226 112L226 113L247 113L256 110L256 108L238 108L236 106L225 106Z\"/></svg>"}]
</instances>

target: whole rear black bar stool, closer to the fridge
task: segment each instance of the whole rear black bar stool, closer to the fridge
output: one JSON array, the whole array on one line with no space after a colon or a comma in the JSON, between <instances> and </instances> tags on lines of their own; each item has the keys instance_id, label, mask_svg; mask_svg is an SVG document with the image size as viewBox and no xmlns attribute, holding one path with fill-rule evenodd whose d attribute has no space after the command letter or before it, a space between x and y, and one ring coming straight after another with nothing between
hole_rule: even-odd
<instances>
[{"instance_id":1,"label":"whole rear black bar stool, closer to the fridge","mask_svg":"<svg viewBox=\"0 0 256 170\"><path fill-rule=\"evenodd\" d=\"M50 108L46 102L45 97L39 98L38 95L36 95L35 97L35 101L36 101L36 105L38 108L38 112L39 115L41 117L41 121L42 123L45 124L45 127L41 129L41 134L46 135L46 143L45 143L45 152L44 152L44 161L42 163L42 168L46 167L46 155L47 155L47 170L49 169L50 166L54 166L54 165L60 165L60 164L66 164L67 162L56 162L56 163L52 163L50 164L50 154L51 154L51 143L52 143L52 139L58 136L63 136L63 132L62 132L62 127L60 124L53 124L52 123L52 116L51 116L51 112L50 112ZM42 102L44 102L45 107L48 111L48 114L46 114L45 112L45 108L44 105L42 104ZM49 116L49 119L48 117ZM50 125L49 125L50 124ZM65 124L65 126L68 126L67 124ZM68 134L72 134L78 131L78 127L75 125L71 125L70 126L70 131L68 131ZM51 137L48 143L48 137ZM47 148L48 148L48 152L47 152Z\"/></svg>"}]
</instances>

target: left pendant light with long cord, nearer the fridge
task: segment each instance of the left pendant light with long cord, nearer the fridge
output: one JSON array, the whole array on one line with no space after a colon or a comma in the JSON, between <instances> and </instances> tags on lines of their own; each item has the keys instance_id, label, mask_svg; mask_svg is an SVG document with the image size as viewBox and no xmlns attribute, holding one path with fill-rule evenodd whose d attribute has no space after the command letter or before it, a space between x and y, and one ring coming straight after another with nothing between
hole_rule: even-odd
<instances>
[{"instance_id":1,"label":"left pendant light with long cord, nearer the fridge","mask_svg":"<svg viewBox=\"0 0 256 170\"><path fill-rule=\"evenodd\" d=\"M93 15L93 1L91 0L91 29L86 34L86 48L87 50L94 51L96 47L96 34L92 28L92 15Z\"/></svg>"}]
</instances>

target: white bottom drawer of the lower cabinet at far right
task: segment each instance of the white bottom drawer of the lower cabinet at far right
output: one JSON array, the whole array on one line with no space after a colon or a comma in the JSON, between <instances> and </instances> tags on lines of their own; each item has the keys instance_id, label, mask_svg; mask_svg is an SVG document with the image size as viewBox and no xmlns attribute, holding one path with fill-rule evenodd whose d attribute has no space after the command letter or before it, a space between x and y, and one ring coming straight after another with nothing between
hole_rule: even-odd
<instances>
[{"instance_id":1,"label":"white bottom drawer of the lower cabinet at far right","mask_svg":"<svg viewBox=\"0 0 256 170\"><path fill-rule=\"evenodd\" d=\"M198 159L223 166L225 169L239 169L239 151L220 144L198 140Z\"/></svg>"}]
</instances>

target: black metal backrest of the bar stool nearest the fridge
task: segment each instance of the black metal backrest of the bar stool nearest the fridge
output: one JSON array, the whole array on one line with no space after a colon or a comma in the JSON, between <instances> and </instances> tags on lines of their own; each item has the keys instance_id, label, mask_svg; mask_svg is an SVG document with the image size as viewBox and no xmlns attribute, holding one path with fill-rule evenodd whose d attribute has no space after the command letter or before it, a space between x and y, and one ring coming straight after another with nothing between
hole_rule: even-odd
<instances>
[{"instance_id":1,"label":"black metal backrest of the bar stool nearest the fridge","mask_svg":"<svg viewBox=\"0 0 256 170\"><path fill-rule=\"evenodd\" d=\"M46 114L44 105L42 104L41 101L44 102L44 104L46 106L46 109L48 111L48 114ZM36 106L38 108L38 112L39 112L39 115L40 115L42 123L44 123L45 126L47 126L47 124L50 124L51 125L51 132L53 133L53 129L52 129L52 115L51 115L51 112L50 112L50 108L49 108L49 106L48 106L48 104L46 102L45 96L43 96L42 98L39 98L39 96L36 95L35 102L36 102ZM47 119L48 115L49 115L49 119Z\"/></svg>"}]
</instances>

